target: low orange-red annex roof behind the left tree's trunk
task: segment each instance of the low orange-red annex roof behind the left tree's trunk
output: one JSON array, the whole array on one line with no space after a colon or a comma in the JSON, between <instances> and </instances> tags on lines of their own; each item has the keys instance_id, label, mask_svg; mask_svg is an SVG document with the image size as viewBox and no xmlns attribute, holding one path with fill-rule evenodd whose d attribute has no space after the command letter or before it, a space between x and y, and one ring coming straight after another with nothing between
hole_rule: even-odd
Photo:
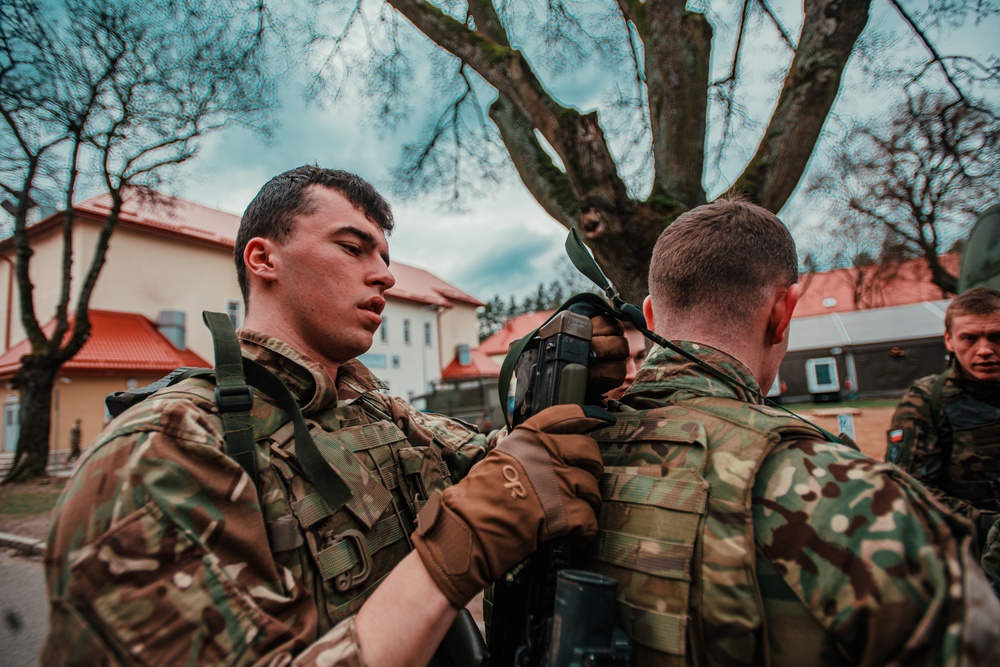
<instances>
[{"instance_id":1,"label":"low orange-red annex roof behind the left tree's trunk","mask_svg":"<svg viewBox=\"0 0 1000 667\"><path fill-rule=\"evenodd\" d=\"M163 373L179 366L211 367L190 350L178 350L144 315L110 310L90 311L90 338L75 357L62 366L67 374ZM46 335L55 319L43 327ZM28 339L0 355L0 379L8 379L21 367L21 357L30 351Z\"/></svg>"}]
</instances>

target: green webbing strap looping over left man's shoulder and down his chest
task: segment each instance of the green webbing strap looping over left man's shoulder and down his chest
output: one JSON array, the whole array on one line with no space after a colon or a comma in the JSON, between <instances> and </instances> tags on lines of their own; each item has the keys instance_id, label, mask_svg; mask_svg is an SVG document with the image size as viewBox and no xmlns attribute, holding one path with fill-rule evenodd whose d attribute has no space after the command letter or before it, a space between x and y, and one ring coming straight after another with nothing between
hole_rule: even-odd
<instances>
[{"instance_id":1,"label":"green webbing strap looping over left man's shoulder and down his chest","mask_svg":"<svg viewBox=\"0 0 1000 667\"><path fill-rule=\"evenodd\" d=\"M302 462L306 479L334 512L339 510L350 500L351 490L319 453L302 410L288 387L265 367L243 358L228 315L205 311L203 318L212 332L215 347L215 400L226 431L226 454L247 471L257 487L257 445L250 416L252 385L291 415L295 426L295 454Z\"/></svg>"}]
</instances>

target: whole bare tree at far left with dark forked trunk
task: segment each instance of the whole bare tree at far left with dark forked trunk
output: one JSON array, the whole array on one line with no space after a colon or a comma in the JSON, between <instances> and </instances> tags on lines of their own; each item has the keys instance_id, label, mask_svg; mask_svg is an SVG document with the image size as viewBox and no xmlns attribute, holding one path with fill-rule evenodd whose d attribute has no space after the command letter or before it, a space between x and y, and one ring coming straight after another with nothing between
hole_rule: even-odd
<instances>
[{"instance_id":1,"label":"whole bare tree at far left with dark forked trunk","mask_svg":"<svg viewBox=\"0 0 1000 667\"><path fill-rule=\"evenodd\" d=\"M88 305L123 202L153 196L201 137L227 123L263 129L274 98L262 60L268 20L252 0L0 2L0 196L13 218L31 345L15 378L20 437L5 482L44 474L53 383L90 335ZM74 286L74 203L97 192L110 196L111 210ZM40 205L65 211L48 335L30 278Z\"/></svg>"}]
</instances>

